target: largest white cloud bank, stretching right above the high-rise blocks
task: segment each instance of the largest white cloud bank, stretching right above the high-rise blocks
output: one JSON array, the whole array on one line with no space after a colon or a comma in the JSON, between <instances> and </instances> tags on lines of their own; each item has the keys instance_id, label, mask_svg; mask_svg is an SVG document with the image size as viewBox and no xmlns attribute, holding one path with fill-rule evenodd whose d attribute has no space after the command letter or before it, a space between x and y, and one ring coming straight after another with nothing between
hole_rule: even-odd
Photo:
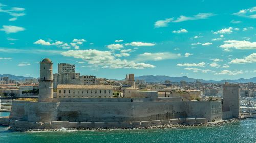
<instances>
[{"instance_id":1,"label":"largest white cloud bank, stretching right above the high-rise blocks","mask_svg":"<svg viewBox=\"0 0 256 143\"><path fill-rule=\"evenodd\" d=\"M115 58L110 51L100 51L95 49L88 50L69 50L61 53L66 57L74 57L82 59L90 65L101 66L102 68L154 68L154 65L146 63L135 63L134 61L127 61Z\"/></svg>"}]
</instances>

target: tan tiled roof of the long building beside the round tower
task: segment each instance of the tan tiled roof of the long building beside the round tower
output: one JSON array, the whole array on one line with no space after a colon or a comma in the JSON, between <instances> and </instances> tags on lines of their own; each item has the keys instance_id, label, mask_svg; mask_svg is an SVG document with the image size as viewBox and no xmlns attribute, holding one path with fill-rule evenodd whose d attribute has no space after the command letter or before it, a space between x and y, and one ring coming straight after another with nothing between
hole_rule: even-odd
<instances>
[{"instance_id":1,"label":"tan tiled roof of the long building beside the round tower","mask_svg":"<svg viewBox=\"0 0 256 143\"><path fill-rule=\"evenodd\" d=\"M57 89L113 89L112 85L72 85L58 84Z\"/></svg>"}]
</instances>

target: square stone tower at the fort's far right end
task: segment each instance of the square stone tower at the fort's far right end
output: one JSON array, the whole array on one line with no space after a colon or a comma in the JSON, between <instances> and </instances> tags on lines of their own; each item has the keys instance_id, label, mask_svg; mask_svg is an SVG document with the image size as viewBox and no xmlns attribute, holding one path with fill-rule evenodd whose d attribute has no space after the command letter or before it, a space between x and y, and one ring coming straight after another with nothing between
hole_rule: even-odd
<instances>
[{"instance_id":1,"label":"square stone tower at the fort's far right end","mask_svg":"<svg viewBox=\"0 0 256 143\"><path fill-rule=\"evenodd\" d=\"M238 84L225 84L223 87L223 112L232 112L233 118L238 118L240 115L240 98L239 98L239 85Z\"/></svg>"}]
</instances>

